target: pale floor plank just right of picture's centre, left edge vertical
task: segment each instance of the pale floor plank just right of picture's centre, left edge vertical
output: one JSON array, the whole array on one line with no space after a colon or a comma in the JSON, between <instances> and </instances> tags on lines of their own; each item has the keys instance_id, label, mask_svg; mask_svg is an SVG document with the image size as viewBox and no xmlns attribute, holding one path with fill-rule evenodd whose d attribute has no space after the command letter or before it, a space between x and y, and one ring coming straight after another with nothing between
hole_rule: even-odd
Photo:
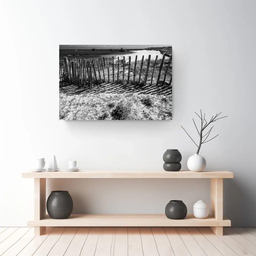
<instances>
[{"instance_id":1,"label":"pale floor plank just right of picture's centre, left edge vertical","mask_svg":"<svg viewBox=\"0 0 256 256\"><path fill-rule=\"evenodd\" d=\"M143 256L141 236L138 227L128 228L128 256Z\"/></svg>"}]
</instances>

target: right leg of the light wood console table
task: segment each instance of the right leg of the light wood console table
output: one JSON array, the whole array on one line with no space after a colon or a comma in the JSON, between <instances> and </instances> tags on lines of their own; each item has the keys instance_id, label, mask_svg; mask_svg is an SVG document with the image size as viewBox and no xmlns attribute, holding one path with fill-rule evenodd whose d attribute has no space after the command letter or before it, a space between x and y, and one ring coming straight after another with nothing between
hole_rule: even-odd
<instances>
[{"instance_id":1,"label":"right leg of the light wood console table","mask_svg":"<svg viewBox=\"0 0 256 256\"><path fill-rule=\"evenodd\" d=\"M210 210L217 220L223 220L223 178L210 179ZM223 235L223 227L210 227L216 235Z\"/></svg>"}]
</instances>

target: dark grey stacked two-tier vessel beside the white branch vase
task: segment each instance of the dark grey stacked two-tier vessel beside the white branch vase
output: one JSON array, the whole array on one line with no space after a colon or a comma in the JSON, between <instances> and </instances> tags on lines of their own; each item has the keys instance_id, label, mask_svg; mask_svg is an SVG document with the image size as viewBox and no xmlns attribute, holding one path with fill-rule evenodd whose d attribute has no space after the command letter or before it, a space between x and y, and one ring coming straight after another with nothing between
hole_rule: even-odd
<instances>
[{"instance_id":1,"label":"dark grey stacked two-tier vessel beside the white branch vase","mask_svg":"<svg viewBox=\"0 0 256 256\"><path fill-rule=\"evenodd\" d=\"M181 153L178 149L167 149L163 154L163 169L165 171L179 171L181 169Z\"/></svg>"}]
</instances>

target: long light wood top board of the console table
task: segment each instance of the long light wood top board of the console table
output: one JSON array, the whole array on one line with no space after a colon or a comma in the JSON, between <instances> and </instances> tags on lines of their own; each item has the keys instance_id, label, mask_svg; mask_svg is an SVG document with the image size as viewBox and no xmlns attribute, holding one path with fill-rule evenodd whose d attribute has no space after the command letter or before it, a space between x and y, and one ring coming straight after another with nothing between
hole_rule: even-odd
<instances>
[{"instance_id":1,"label":"long light wood top board of the console table","mask_svg":"<svg viewBox=\"0 0 256 256\"><path fill-rule=\"evenodd\" d=\"M22 178L233 178L226 170L183 171L121 171L121 170L81 170L81 171L43 171L22 173Z\"/></svg>"}]
</instances>

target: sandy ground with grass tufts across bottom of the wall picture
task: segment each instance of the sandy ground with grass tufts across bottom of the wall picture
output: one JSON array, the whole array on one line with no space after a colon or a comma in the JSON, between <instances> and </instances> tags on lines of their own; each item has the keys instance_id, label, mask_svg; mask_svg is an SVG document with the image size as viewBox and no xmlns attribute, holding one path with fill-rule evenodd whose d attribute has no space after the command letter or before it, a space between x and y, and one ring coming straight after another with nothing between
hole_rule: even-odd
<instances>
[{"instance_id":1,"label":"sandy ground with grass tufts across bottom of the wall picture","mask_svg":"<svg viewBox=\"0 0 256 256\"><path fill-rule=\"evenodd\" d=\"M59 94L62 120L168 120L172 96L145 94Z\"/></svg>"}]
</instances>

